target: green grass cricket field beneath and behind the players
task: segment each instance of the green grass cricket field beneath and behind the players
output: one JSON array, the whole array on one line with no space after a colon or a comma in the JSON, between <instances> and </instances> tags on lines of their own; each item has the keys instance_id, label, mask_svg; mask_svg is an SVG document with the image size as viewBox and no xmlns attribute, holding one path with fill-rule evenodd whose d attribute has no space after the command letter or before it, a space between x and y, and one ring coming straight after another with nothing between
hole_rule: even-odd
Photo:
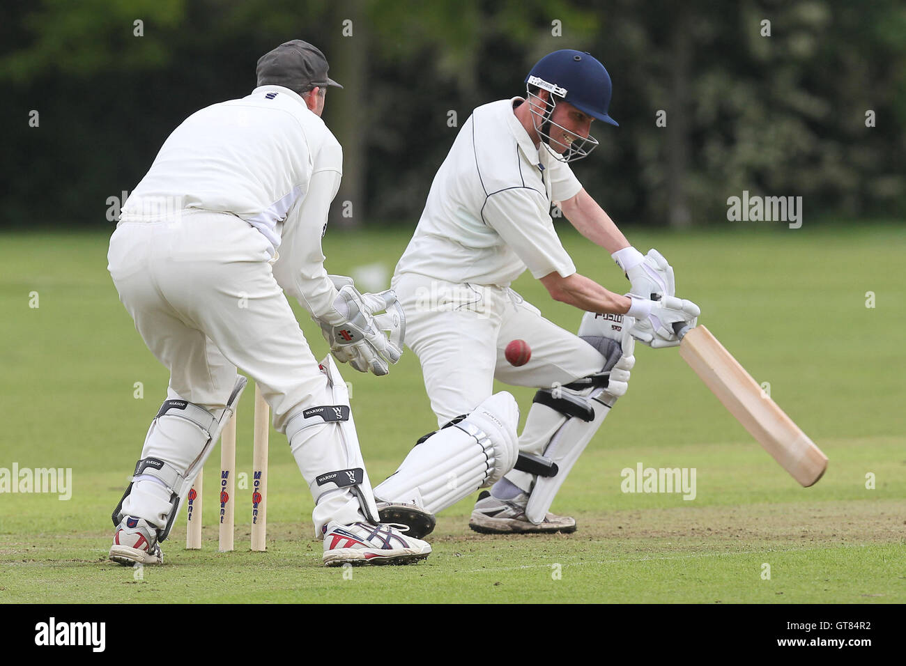
<instances>
[{"instance_id":1,"label":"green grass cricket field beneath and behind the players","mask_svg":"<svg viewBox=\"0 0 906 666\"><path fill-rule=\"evenodd\" d=\"M240 497L236 552L217 553L206 484L205 549L183 549L183 511L164 544L167 564L138 580L106 559L110 514L167 372L118 301L106 234L2 236L0 468L72 468L72 498L0 495L0 602L906 602L906 231L853 223L629 235L670 259L700 321L824 449L830 466L816 486L788 477L675 349L639 345L629 393L554 503L578 520L572 536L479 536L467 527L468 498L439 516L434 553L420 565L324 569L311 497L272 433L268 552L248 550ZM580 272L626 287L605 252L563 236ZM390 271L407 241L404 231L328 233L327 266ZM578 325L579 313L529 276L515 286L548 318ZM323 355L316 326L299 318ZM371 478L384 478L435 427L418 361L408 352L385 378L343 372ZM533 391L514 393L525 418ZM251 422L245 400L239 472L251 467ZM622 468L639 463L695 468L696 497L623 493ZM207 478L218 464L215 453Z\"/></svg>"}]
</instances>

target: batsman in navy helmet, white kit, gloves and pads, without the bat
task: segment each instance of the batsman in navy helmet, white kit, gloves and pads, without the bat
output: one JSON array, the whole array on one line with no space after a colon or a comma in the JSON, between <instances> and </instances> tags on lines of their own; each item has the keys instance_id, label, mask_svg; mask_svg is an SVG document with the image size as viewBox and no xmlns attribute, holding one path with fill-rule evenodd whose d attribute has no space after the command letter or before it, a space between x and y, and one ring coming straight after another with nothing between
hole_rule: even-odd
<instances>
[{"instance_id":1,"label":"batsman in navy helmet, white kit, gloves and pads, without the bat","mask_svg":"<svg viewBox=\"0 0 906 666\"><path fill-rule=\"evenodd\" d=\"M434 514L479 487L490 490L478 495L469 521L477 532L573 532L572 517L549 509L626 392L634 340L675 346L672 324L694 325L699 315L696 304L675 297L667 260L631 246L570 169L598 145L593 121L617 126L602 63L555 51L525 84L525 99L479 106L459 130L391 283L440 430L420 439L374 492L381 520L408 525L417 538L434 528ZM552 206L607 251L629 294L576 273ZM510 288L526 269L554 300L586 312L578 334ZM516 367L505 349L518 339L532 353ZM512 418L490 415L506 430L494 440L475 427L495 379L538 389L519 437Z\"/></svg>"}]
</instances>

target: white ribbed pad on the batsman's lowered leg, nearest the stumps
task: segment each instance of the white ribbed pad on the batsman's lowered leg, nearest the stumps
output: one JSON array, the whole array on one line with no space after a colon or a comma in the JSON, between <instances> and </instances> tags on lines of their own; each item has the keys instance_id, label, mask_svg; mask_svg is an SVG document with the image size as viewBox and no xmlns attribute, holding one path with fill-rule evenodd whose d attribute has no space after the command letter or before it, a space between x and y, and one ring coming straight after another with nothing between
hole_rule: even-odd
<instances>
[{"instance_id":1,"label":"white ribbed pad on the batsman's lowered leg, nearest the stumps","mask_svg":"<svg viewBox=\"0 0 906 666\"><path fill-rule=\"evenodd\" d=\"M482 402L464 420L416 446L400 468L374 488L389 502L419 501L438 513L480 487L493 485L516 465L519 407L507 391Z\"/></svg>"}]
</instances>

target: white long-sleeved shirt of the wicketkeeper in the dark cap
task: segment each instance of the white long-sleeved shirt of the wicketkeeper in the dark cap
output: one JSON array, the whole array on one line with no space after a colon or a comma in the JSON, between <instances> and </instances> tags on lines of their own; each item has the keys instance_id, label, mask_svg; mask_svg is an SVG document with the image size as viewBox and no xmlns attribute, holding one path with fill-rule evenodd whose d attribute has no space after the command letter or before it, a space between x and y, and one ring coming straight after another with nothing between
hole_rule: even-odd
<instances>
[{"instance_id":1,"label":"white long-sleeved shirt of the wicketkeeper in the dark cap","mask_svg":"<svg viewBox=\"0 0 906 666\"><path fill-rule=\"evenodd\" d=\"M197 111L173 130L120 220L186 208L241 217L269 241L277 283L319 316L336 297L321 236L341 178L342 148L321 118L295 92L261 86Z\"/></svg>"}]
</instances>

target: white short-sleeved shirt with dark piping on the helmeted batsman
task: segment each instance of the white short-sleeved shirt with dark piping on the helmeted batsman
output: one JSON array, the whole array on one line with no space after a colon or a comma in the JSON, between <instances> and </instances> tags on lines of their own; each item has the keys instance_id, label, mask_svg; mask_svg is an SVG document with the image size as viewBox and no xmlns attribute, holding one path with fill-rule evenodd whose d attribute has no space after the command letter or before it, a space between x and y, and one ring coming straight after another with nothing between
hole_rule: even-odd
<instances>
[{"instance_id":1,"label":"white short-sleeved shirt with dark piping on the helmeted batsman","mask_svg":"<svg viewBox=\"0 0 906 666\"><path fill-rule=\"evenodd\" d=\"M459 130L395 275L508 286L526 267L535 277L575 273L550 207L582 184L545 147L535 148L513 112L516 101L479 106Z\"/></svg>"}]
</instances>

